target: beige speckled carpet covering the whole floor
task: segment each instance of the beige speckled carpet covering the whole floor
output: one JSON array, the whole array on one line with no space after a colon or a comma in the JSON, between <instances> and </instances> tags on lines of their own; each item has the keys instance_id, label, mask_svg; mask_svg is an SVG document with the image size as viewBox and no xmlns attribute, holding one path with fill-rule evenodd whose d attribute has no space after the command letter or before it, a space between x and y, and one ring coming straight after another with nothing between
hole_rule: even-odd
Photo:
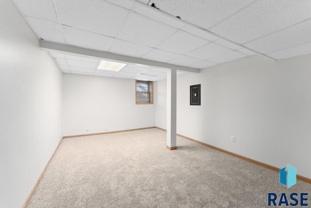
<instances>
[{"instance_id":1,"label":"beige speckled carpet covering the whole floor","mask_svg":"<svg viewBox=\"0 0 311 208\"><path fill-rule=\"evenodd\" d=\"M158 129L63 139L28 208L262 208L277 172ZM286 164L284 164L286 165ZM309 202L310 203L310 202Z\"/></svg>"}]
</instances>

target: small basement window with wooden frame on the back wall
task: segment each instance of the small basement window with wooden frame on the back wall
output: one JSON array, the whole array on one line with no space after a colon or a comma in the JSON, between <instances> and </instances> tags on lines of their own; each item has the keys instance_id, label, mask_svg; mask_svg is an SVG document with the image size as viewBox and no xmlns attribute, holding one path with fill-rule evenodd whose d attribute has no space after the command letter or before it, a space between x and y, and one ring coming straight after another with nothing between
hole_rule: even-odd
<instances>
[{"instance_id":1,"label":"small basement window with wooden frame on the back wall","mask_svg":"<svg viewBox=\"0 0 311 208\"><path fill-rule=\"evenodd\" d=\"M154 104L154 83L136 80L136 104Z\"/></svg>"}]
</instances>

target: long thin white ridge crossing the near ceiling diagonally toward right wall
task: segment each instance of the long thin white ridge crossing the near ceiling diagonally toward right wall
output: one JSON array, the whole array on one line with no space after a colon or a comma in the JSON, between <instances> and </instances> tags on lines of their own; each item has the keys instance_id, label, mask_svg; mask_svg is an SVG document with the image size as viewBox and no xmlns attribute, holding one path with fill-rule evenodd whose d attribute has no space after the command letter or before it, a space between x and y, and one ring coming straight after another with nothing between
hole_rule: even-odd
<instances>
[{"instance_id":1,"label":"long thin white ridge crossing the near ceiling diagonally toward right wall","mask_svg":"<svg viewBox=\"0 0 311 208\"><path fill-rule=\"evenodd\" d=\"M188 21L185 21L185 20L183 20L183 19L177 18L177 17L175 17L175 16L173 16L173 15L167 13L167 12L164 12L163 10L156 9L156 8L154 8L154 7L152 7L152 6L148 5L148 4L145 4L145 3L143 3L143 2L141 2L141 1L139 1L139 0L130 0L130 1L132 1L133 3L136 3L136 4L140 5L140 6L143 6L143 7L145 7L145 8L151 9L151 10L153 10L153 11L155 11L155 12L161 14L161 15L164 15L164 16L166 16L166 17L173 18L173 19L175 19L175 20L177 20L177 21L180 21L180 22L182 22L182 23L184 23L184 24L186 24L186 25L189 25L189 26L191 26L191 27L195 27L195 28L197 28L197 29L199 29L199 30L202 30L202 31L204 31L204 32L207 33L207 34L214 35L214 36L216 36L216 37L218 37L218 38L220 38L220 39L222 39L222 40L225 40L225 41L228 41L228 42L232 43L233 45L239 46L239 47L241 47L241 48L244 48L244 49L247 49L247 50L249 50L249 51L255 52L256 54L258 54L258 55L260 55L260 56L263 56L263 57L266 57L266 58L269 58L269 59L272 59L272 60L276 61L276 59L273 58L273 57L271 57L271 56L268 56L268 55L266 55L266 54L263 54L263 53L254 51L254 50L252 50L252 49L250 49L250 48L247 48L247 47L243 46L242 44L236 43L236 42L234 42L234 41L232 41L232 40L229 40L229 39L227 39L227 38L225 38L225 37L223 37L223 36L221 36L221 35L217 35L217 34L215 34L215 33L213 33L213 32L210 32L210 31L208 31L208 30L206 30L206 29L204 29L204 28L201 28L201 27L199 27L199 26L197 26L197 25L195 25L195 24L192 24L192 23L190 23L190 22L188 22Z\"/></svg>"}]
</instances>

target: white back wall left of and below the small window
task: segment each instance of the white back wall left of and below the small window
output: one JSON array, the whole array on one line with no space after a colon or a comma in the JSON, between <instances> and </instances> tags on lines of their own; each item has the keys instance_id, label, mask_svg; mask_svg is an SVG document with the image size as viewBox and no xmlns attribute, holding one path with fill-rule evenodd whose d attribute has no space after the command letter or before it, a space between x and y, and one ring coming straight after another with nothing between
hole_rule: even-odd
<instances>
[{"instance_id":1,"label":"white back wall left of and below the small window","mask_svg":"<svg viewBox=\"0 0 311 208\"><path fill-rule=\"evenodd\" d=\"M64 74L63 135L155 126L154 104L135 104L135 80Z\"/></svg>"}]
</instances>

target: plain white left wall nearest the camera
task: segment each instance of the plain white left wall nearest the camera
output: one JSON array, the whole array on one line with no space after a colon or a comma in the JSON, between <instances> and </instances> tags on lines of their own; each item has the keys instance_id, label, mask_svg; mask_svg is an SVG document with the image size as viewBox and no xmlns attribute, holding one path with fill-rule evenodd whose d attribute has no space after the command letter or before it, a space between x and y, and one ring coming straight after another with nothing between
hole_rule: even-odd
<instances>
[{"instance_id":1,"label":"plain white left wall nearest the camera","mask_svg":"<svg viewBox=\"0 0 311 208\"><path fill-rule=\"evenodd\" d=\"M18 208L62 137L62 73L11 0L0 25L0 207Z\"/></svg>"}]
</instances>

